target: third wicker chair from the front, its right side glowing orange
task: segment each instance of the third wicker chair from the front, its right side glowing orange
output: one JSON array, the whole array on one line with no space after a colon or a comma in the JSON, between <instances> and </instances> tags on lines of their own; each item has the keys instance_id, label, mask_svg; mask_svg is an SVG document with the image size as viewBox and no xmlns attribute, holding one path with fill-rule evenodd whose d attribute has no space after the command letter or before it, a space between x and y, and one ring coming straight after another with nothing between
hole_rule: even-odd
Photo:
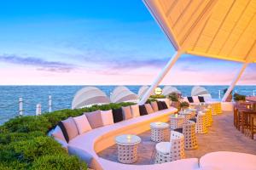
<instances>
[{"instance_id":1,"label":"third wicker chair from the front, its right side glowing orange","mask_svg":"<svg viewBox=\"0 0 256 170\"><path fill-rule=\"evenodd\" d=\"M207 132L207 114L198 113L196 117L195 133L203 134Z\"/></svg>"}]
</instances>

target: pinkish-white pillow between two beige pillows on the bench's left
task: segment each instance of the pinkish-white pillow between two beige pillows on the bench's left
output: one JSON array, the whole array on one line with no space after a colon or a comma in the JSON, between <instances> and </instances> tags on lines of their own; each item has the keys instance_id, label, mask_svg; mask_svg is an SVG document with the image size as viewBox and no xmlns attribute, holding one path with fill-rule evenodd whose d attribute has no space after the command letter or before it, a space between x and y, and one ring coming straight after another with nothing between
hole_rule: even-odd
<instances>
[{"instance_id":1,"label":"pinkish-white pillow between two beige pillows on the bench's left","mask_svg":"<svg viewBox=\"0 0 256 170\"><path fill-rule=\"evenodd\" d=\"M79 134L86 133L91 130L90 123L85 115L73 117L73 120L78 127Z\"/></svg>"}]
</instances>

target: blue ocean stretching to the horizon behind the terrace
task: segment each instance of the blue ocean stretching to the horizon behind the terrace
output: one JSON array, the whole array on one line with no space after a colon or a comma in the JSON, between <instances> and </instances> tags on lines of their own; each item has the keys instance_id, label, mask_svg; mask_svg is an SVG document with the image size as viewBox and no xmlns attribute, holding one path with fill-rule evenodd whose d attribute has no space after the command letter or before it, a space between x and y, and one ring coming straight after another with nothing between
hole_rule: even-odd
<instances>
[{"instance_id":1,"label":"blue ocean stretching to the horizon behind the terrace","mask_svg":"<svg viewBox=\"0 0 256 170\"><path fill-rule=\"evenodd\" d=\"M19 98L23 99L23 115L35 115L36 105L42 105L42 112L48 111L48 97L52 96L52 110L71 108L74 94L84 86L0 86L0 124L7 122L10 118L19 115ZM96 86L103 92L109 94L116 86ZM132 92L138 92L141 86L126 86ZM191 95L193 86L174 86L180 90L184 96ZM203 86L212 94L212 98L218 99L218 90L223 95L224 88L228 86ZM163 86L160 86L163 88ZM256 86L236 86L234 92L239 94L253 95L256 94Z\"/></svg>"}]
</instances>

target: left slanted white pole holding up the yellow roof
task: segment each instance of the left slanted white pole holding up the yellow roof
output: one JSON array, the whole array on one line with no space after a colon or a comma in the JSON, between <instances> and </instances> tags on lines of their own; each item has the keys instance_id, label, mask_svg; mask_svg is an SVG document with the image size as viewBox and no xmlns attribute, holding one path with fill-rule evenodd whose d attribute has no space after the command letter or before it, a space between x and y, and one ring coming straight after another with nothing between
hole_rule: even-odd
<instances>
[{"instance_id":1,"label":"left slanted white pole holding up the yellow roof","mask_svg":"<svg viewBox=\"0 0 256 170\"><path fill-rule=\"evenodd\" d=\"M166 76L168 71L171 70L172 66L176 63L177 59L180 57L181 54L181 51L177 51L175 54L172 55L172 58L169 60L167 65L163 68L162 71L160 71L158 77L156 77L153 84L150 86L150 88L148 88L147 92L143 95L143 98L140 100L139 105L143 105L144 103L146 103L148 97L154 91L154 88L156 88L160 84L160 82Z\"/></svg>"}]
</instances>

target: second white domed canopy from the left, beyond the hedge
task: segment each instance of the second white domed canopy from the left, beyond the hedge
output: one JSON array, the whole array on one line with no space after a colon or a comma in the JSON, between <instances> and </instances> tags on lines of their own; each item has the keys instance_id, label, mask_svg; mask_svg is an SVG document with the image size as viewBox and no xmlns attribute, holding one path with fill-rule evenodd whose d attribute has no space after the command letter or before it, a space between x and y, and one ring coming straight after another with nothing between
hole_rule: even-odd
<instances>
[{"instance_id":1,"label":"second white domed canopy from the left, beyond the hedge","mask_svg":"<svg viewBox=\"0 0 256 170\"><path fill-rule=\"evenodd\" d=\"M128 88L119 86L113 89L113 93L110 95L110 100L113 103L121 103L127 101L137 101L137 94L134 94Z\"/></svg>"}]
</instances>

